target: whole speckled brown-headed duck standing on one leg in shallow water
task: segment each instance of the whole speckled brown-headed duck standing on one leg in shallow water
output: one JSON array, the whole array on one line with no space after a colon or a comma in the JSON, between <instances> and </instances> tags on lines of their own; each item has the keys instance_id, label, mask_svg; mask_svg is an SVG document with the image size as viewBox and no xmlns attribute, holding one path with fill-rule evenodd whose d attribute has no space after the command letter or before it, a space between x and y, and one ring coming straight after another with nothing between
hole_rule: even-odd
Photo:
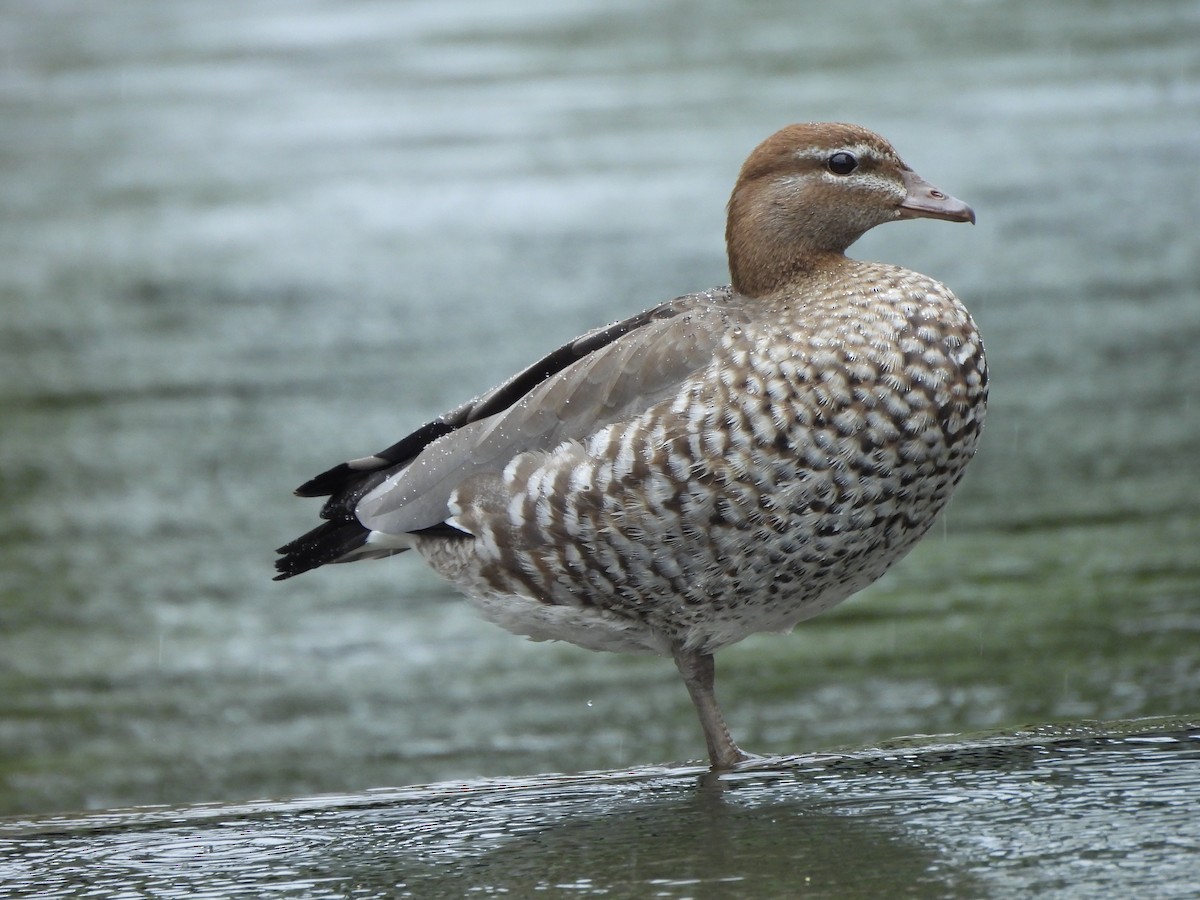
<instances>
[{"instance_id":1,"label":"whole speckled brown-headed duck standing on one leg in shallow water","mask_svg":"<svg viewBox=\"0 0 1200 900\"><path fill-rule=\"evenodd\" d=\"M535 641L667 656L713 770L714 654L876 581L976 454L988 368L942 283L846 250L972 209L857 125L790 125L728 200L730 284L596 328L295 493L324 522L276 580L415 551Z\"/></svg>"}]
</instances>

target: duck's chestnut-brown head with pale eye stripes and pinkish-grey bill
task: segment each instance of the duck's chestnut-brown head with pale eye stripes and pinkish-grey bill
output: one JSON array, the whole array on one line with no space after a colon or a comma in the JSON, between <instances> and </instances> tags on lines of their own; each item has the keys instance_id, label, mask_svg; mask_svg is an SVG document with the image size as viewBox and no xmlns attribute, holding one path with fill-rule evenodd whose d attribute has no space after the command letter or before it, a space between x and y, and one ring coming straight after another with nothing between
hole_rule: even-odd
<instances>
[{"instance_id":1,"label":"duck's chestnut-brown head with pale eye stripes and pinkish-grey bill","mask_svg":"<svg viewBox=\"0 0 1200 900\"><path fill-rule=\"evenodd\" d=\"M970 206L905 166L878 134L830 122L788 125L755 148L728 214L730 274L746 296L828 264L883 222L974 222Z\"/></svg>"}]
</instances>

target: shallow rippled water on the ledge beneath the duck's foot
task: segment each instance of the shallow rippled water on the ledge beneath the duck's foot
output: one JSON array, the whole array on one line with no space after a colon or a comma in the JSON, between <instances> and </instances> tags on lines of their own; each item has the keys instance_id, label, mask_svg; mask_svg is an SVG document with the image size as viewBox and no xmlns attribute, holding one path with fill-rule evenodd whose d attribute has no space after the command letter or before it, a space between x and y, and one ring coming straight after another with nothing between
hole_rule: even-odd
<instances>
[{"instance_id":1,"label":"shallow rippled water on the ledge beneath the duck's foot","mask_svg":"<svg viewBox=\"0 0 1200 900\"><path fill-rule=\"evenodd\" d=\"M1045 896L1200 889L1200 724L0 821L0 896Z\"/></svg>"}]
</instances>

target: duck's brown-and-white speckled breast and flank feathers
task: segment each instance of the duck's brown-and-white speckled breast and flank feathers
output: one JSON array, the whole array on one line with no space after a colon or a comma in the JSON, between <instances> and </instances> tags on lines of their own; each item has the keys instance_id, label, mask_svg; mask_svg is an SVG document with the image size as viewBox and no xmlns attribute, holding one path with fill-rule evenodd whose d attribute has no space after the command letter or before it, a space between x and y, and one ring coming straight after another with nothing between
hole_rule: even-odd
<instances>
[{"instance_id":1,"label":"duck's brown-and-white speckled breast and flank feathers","mask_svg":"<svg viewBox=\"0 0 1200 900\"><path fill-rule=\"evenodd\" d=\"M876 580L974 454L986 367L943 286L854 272L764 301L673 400L517 457L455 580L708 652Z\"/></svg>"}]
</instances>

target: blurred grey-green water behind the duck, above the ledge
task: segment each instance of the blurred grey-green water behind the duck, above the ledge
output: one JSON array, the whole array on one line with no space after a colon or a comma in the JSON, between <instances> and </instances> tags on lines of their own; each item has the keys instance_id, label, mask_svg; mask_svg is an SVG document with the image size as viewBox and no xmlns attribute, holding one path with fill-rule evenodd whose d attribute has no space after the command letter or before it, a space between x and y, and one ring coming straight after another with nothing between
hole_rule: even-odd
<instances>
[{"instance_id":1,"label":"blurred grey-green water behind the duck, above the ledge","mask_svg":"<svg viewBox=\"0 0 1200 900\"><path fill-rule=\"evenodd\" d=\"M792 121L979 224L983 449L883 581L724 652L758 752L1200 712L1200 4L10 0L0 815L694 760L665 660L419 560L270 581L292 496L574 335L727 281Z\"/></svg>"}]
</instances>

